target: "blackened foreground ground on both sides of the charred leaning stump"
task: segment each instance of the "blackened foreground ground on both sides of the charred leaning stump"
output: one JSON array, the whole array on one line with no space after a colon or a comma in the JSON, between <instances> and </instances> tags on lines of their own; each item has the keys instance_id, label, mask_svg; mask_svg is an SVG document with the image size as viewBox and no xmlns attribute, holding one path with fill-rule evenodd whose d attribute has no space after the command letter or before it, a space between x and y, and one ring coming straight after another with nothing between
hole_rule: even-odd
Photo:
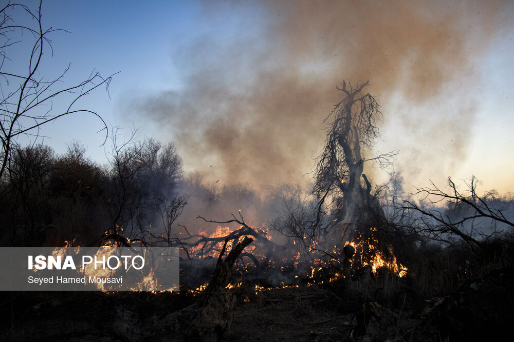
<instances>
[{"instance_id":1,"label":"blackened foreground ground on both sides of the charred leaning stump","mask_svg":"<svg viewBox=\"0 0 514 342\"><path fill-rule=\"evenodd\" d=\"M262 289L241 286L233 341L460 341L494 339L514 318L514 271L468 280L452 294L425 300L408 291L384 296L345 284ZM161 329L198 299L188 291L3 292L2 340L177 340Z\"/></svg>"}]
</instances>

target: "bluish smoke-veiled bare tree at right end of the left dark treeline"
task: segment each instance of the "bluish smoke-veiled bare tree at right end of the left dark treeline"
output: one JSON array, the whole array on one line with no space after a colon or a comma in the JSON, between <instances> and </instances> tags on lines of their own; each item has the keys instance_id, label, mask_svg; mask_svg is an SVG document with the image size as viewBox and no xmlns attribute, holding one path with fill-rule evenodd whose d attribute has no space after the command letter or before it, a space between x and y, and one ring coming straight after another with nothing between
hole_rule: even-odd
<instances>
[{"instance_id":1,"label":"bluish smoke-veiled bare tree at right end of the left dark treeline","mask_svg":"<svg viewBox=\"0 0 514 342\"><path fill-rule=\"evenodd\" d=\"M108 233L148 243L155 238L162 240L161 233L154 235L150 227L152 222L162 222L165 233L171 235L171 225L187 204L187 197L179 196L182 159L175 145L154 139L138 141L135 131L120 143L115 134L109 163L104 197Z\"/></svg>"}]
</instances>

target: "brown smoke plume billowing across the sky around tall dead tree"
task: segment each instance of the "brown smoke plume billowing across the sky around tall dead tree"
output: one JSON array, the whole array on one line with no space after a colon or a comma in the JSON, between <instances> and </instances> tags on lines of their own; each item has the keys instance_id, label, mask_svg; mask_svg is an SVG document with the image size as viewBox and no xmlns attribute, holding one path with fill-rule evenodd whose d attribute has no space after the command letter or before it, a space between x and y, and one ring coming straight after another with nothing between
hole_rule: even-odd
<instances>
[{"instance_id":1,"label":"brown smoke plume billowing across the sky around tall dead tree","mask_svg":"<svg viewBox=\"0 0 514 342\"><path fill-rule=\"evenodd\" d=\"M322 121L340 100L335 86L369 79L388 146L400 145L391 147L412 173L449 170L473 123L462 88L476 81L501 10L479 1L206 2L200 21L215 33L173 55L183 87L136 107L172 132L186 168L260 191L307 182Z\"/></svg>"}]
</instances>

